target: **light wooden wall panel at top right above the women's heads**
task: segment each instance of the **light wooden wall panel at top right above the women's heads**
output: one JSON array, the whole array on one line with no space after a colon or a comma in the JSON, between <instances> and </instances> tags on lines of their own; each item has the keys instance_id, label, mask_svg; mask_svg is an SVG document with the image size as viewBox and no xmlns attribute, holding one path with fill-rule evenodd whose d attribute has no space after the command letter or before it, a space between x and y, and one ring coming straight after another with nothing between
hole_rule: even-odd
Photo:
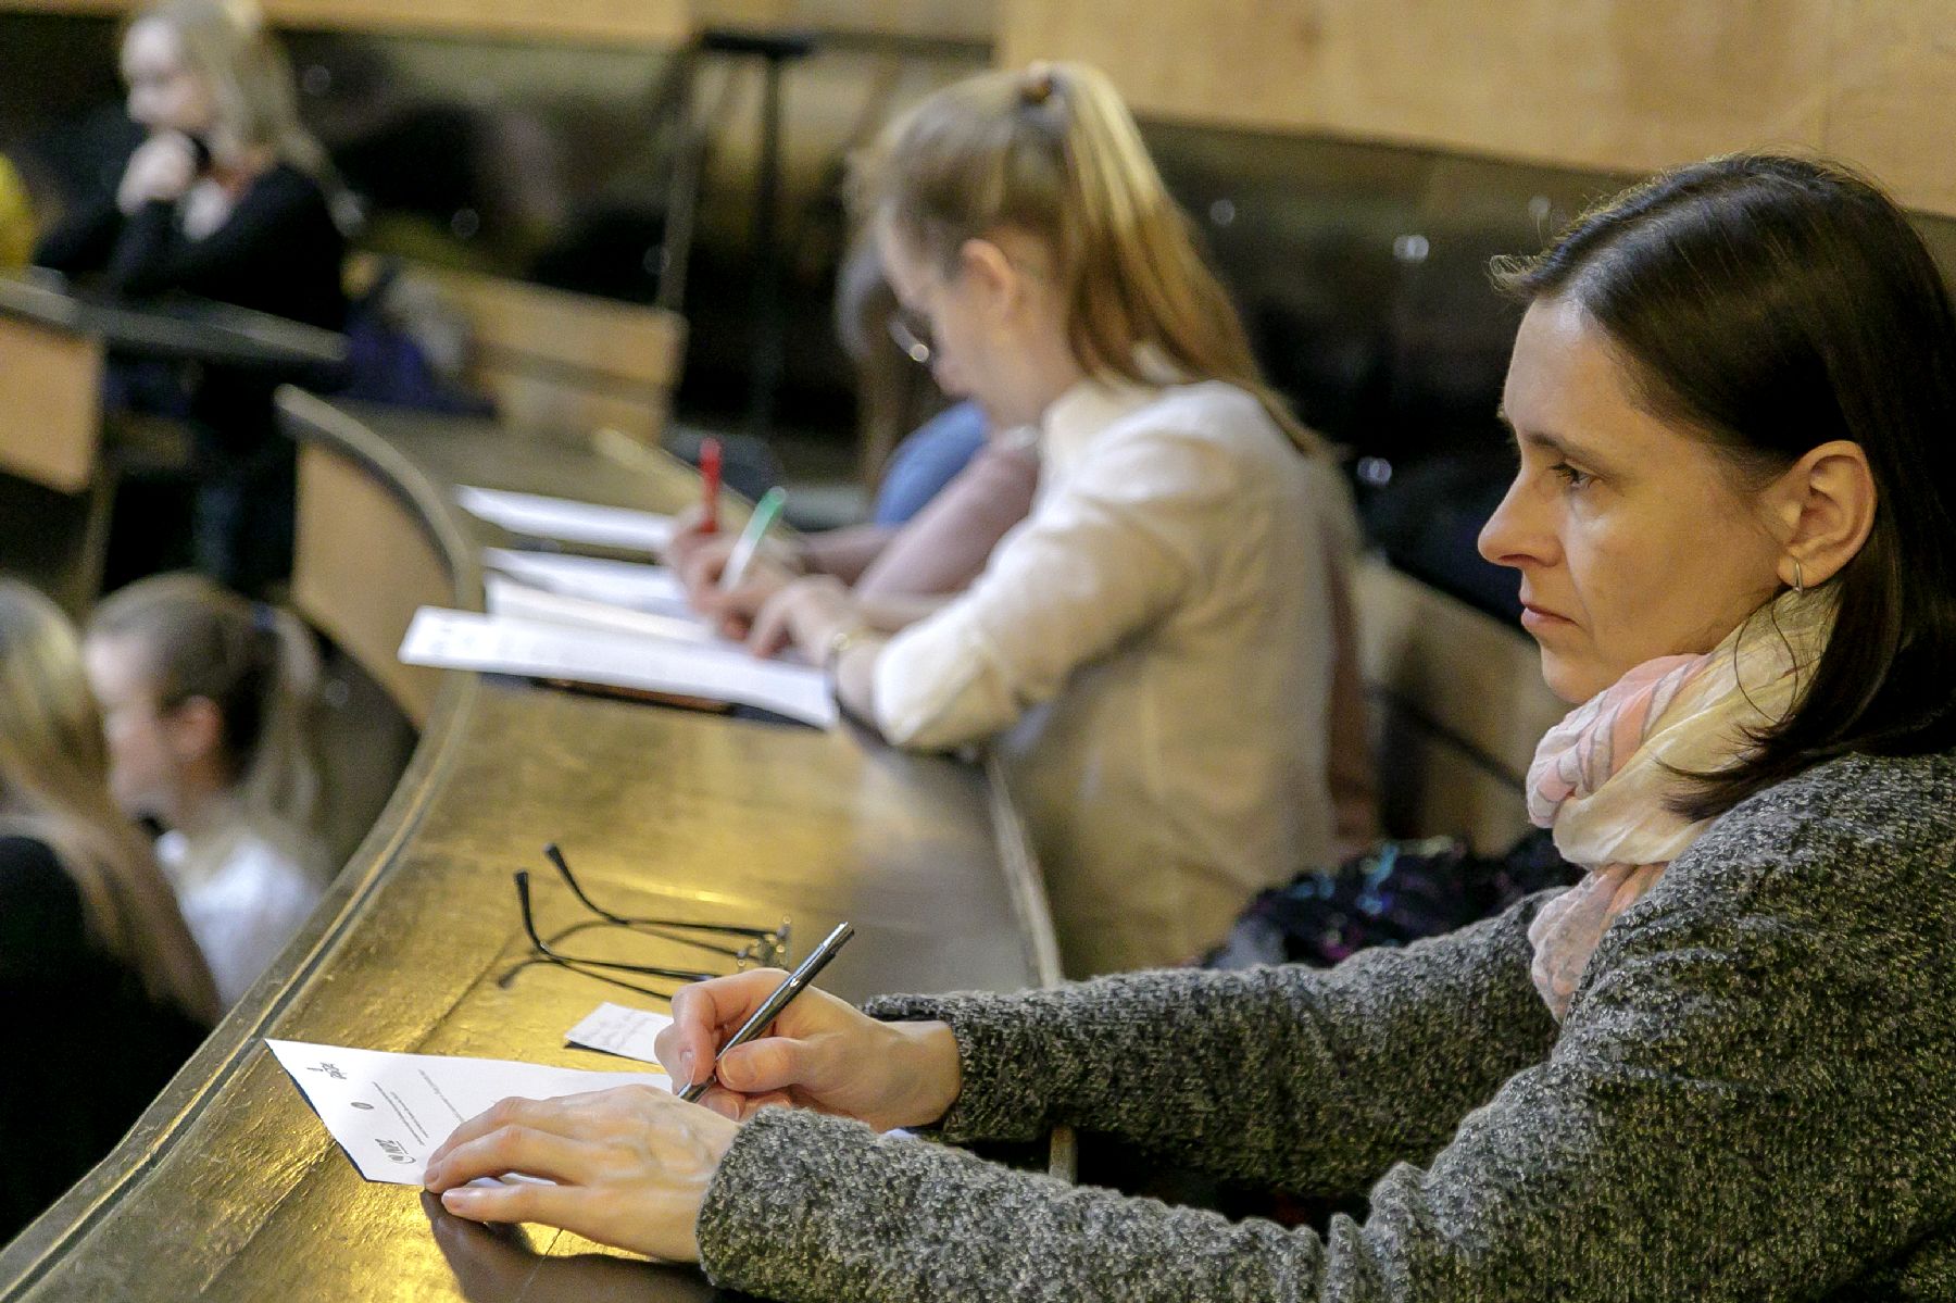
<instances>
[{"instance_id":1,"label":"light wooden wall panel at top right above the women's heads","mask_svg":"<svg viewBox=\"0 0 1956 1303\"><path fill-rule=\"evenodd\" d=\"M1950 0L1001 0L1148 115L1645 170L1753 147L1956 213Z\"/></svg>"}]
</instances>

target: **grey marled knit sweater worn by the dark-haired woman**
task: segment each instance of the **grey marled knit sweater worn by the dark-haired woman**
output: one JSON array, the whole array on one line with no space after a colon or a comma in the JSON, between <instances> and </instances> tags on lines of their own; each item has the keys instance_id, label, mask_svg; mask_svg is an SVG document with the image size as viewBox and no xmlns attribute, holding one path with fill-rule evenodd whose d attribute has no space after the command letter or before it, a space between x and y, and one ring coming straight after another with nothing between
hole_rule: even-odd
<instances>
[{"instance_id":1,"label":"grey marled knit sweater worn by the dark-haired woman","mask_svg":"<svg viewBox=\"0 0 1956 1303\"><path fill-rule=\"evenodd\" d=\"M943 1017L945 1139L1115 1131L1219 1176L1371 1190L1328 1236L767 1109L698 1219L802 1299L1956 1297L1956 759L1850 757L1721 818L1557 1029L1545 896L1332 970L1148 972Z\"/></svg>"}]
</instances>

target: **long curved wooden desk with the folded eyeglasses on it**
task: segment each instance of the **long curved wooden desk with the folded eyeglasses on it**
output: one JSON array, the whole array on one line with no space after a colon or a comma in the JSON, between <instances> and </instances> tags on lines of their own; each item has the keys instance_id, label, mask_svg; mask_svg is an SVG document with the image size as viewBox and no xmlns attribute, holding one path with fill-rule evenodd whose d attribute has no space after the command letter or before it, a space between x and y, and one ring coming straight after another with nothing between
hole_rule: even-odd
<instances>
[{"instance_id":1,"label":"long curved wooden desk with the folded eyeglasses on it","mask_svg":"<svg viewBox=\"0 0 1956 1303\"><path fill-rule=\"evenodd\" d=\"M303 440L295 597L383 685L405 687L421 743L307 929L123 1145L0 1250L0 1299L710 1297L694 1270L538 1227L491 1235L413 1188L364 1182L262 1039L634 1066L565 1047L600 1002L647 1002L534 963L511 873L532 871L538 925L565 947L702 965L642 933L565 941L587 916L546 841L620 914L786 916L796 959L853 921L857 939L822 976L849 1000L1048 982L1050 923L1017 820L984 769L849 730L473 673L436 673L417 696L391 667L405 607L385 603L426 581L438 591L421 597L479 608L477 550L505 542L450 503L454 483L673 511L696 481L661 454L616 460L481 421L291 389L282 407ZM376 610L395 620L385 638ZM113 1072L115 1049L78 1070Z\"/></svg>"}]
</instances>

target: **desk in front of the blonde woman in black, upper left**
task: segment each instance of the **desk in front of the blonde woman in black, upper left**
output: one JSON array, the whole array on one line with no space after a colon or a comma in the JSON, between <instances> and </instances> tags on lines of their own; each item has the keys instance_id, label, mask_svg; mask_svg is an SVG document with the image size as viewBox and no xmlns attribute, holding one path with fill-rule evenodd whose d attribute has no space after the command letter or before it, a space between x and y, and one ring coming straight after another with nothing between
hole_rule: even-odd
<instances>
[{"instance_id":1,"label":"desk in front of the blonde woman in black, upper left","mask_svg":"<svg viewBox=\"0 0 1956 1303\"><path fill-rule=\"evenodd\" d=\"M346 338L209 299L117 301L78 293L57 272L0 274L0 511L16 524L8 562L72 610L94 601L108 544L108 354L282 380L344 362Z\"/></svg>"}]
</instances>

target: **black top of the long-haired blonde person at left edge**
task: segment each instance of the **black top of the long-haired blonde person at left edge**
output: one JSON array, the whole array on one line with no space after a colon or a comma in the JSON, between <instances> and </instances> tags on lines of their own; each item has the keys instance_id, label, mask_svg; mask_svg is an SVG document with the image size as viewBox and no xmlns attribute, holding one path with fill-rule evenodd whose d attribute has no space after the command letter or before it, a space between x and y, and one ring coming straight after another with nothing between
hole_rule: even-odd
<instances>
[{"instance_id":1,"label":"black top of the long-haired blonde person at left edge","mask_svg":"<svg viewBox=\"0 0 1956 1303\"><path fill-rule=\"evenodd\" d=\"M201 1039L88 943L53 851L0 837L0 1244L115 1146Z\"/></svg>"}]
</instances>

